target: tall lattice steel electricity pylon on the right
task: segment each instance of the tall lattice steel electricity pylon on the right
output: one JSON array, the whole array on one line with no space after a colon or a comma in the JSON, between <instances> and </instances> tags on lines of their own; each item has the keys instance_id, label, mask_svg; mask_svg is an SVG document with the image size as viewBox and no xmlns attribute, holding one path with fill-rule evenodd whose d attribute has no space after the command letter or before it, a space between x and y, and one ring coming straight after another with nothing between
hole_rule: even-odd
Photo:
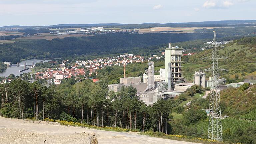
<instances>
[{"instance_id":1,"label":"tall lattice steel electricity pylon on the right","mask_svg":"<svg viewBox=\"0 0 256 144\"><path fill-rule=\"evenodd\" d=\"M218 59L226 59L226 57L218 56L218 48L223 48L217 44L216 32L214 31L213 44L207 48L213 48L212 56L203 58L211 59L212 67L205 71L211 71L211 92L209 104L209 124L208 124L208 139L222 141L222 124L220 111L220 89L219 89L219 71L225 70L218 67Z\"/></svg>"}]
</instances>

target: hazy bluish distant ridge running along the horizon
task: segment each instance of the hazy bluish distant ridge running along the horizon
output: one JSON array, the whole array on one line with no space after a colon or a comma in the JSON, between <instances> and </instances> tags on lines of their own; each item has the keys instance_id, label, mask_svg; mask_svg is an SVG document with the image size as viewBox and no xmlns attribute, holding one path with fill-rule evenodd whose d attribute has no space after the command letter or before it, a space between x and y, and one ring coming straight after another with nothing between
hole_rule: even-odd
<instances>
[{"instance_id":1,"label":"hazy bluish distant ridge running along the horizon","mask_svg":"<svg viewBox=\"0 0 256 144\"><path fill-rule=\"evenodd\" d=\"M142 23L142 24L120 24L120 23L99 23L99 24L57 24L48 26L3 26L0 29L5 28L51 28L51 27L121 27L123 29L128 28L143 28L143 27L203 27L203 26L250 26L256 25L256 20L225 20L225 21L205 21L205 22L185 22L185 23Z\"/></svg>"}]
</instances>

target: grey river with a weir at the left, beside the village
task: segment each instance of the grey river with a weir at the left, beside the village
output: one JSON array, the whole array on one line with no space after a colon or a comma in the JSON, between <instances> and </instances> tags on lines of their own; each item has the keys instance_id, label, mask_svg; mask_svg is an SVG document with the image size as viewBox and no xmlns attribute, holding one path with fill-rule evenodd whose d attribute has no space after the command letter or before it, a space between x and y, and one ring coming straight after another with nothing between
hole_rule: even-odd
<instances>
[{"instance_id":1,"label":"grey river with a weir at the left, beside the village","mask_svg":"<svg viewBox=\"0 0 256 144\"><path fill-rule=\"evenodd\" d=\"M25 70L23 72L20 72L20 70L23 70L24 69L24 63L26 62L27 65L31 65L32 62L34 62L34 64L36 63L40 63L40 62L47 62L47 61L51 61L52 59L32 59L32 60L25 60L25 61L21 61L20 62L20 66L17 67L17 66L11 66L11 67L7 67L6 71L3 72L3 73L0 73L0 77L8 77L10 74L14 74L15 76L20 76L20 74L22 73L29 73L31 72L30 69L28 70ZM23 66L22 66L23 65ZM30 66L27 66L27 67L30 67Z\"/></svg>"}]
</instances>

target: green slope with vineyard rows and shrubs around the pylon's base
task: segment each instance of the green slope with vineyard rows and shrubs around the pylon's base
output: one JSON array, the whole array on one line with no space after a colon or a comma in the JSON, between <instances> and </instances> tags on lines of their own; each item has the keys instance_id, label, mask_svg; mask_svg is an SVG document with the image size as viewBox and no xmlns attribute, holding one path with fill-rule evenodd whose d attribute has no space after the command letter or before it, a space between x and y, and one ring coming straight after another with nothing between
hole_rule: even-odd
<instances>
[{"instance_id":1,"label":"green slope with vineyard rows and shrubs around the pylon's base","mask_svg":"<svg viewBox=\"0 0 256 144\"><path fill-rule=\"evenodd\" d=\"M229 88L221 91L221 101L225 102L222 115L229 118L222 119L223 135L230 131L234 133L239 127L246 132L249 127L256 128L256 85L250 86L245 91L240 88ZM208 119L201 120L197 129L208 133Z\"/></svg>"}]
</instances>

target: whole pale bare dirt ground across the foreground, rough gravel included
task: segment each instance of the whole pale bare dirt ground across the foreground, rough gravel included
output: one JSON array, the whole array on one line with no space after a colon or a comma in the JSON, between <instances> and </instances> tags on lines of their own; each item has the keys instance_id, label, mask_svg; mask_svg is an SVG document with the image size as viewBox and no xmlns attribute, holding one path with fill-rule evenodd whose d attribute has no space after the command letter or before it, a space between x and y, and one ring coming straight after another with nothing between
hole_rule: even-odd
<instances>
[{"instance_id":1,"label":"whole pale bare dirt ground across the foreground, rough gravel included","mask_svg":"<svg viewBox=\"0 0 256 144\"><path fill-rule=\"evenodd\" d=\"M142 136L134 132L112 132L82 127L25 123L19 119L0 117L0 144L43 144L44 140L48 144L85 144L90 133L95 133L99 144L194 144L191 142Z\"/></svg>"}]
</instances>

